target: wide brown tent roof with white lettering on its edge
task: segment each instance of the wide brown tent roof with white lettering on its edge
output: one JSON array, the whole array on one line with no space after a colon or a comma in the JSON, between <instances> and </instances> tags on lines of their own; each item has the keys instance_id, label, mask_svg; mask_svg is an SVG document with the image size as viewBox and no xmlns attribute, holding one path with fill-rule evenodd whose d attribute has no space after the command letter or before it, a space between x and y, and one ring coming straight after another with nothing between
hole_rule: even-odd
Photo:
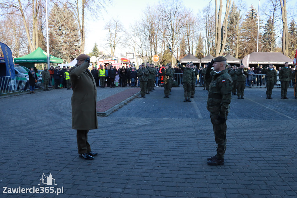
<instances>
[{"instance_id":1,"label":"wide brown tent roof with white lettering on its edge","mask_svg":"<svg viewBox=\"0 0 297 198\"><path fill-rule=\"evenodd\" d=\"M248 67L249 65L284 65L285 62L289 64L293 63L293 59L288 58L284 54L280 52L252 52L252 54L248 54L244 56L242 59L242 63L244 67Z\"/></svg>"}]
</instances>

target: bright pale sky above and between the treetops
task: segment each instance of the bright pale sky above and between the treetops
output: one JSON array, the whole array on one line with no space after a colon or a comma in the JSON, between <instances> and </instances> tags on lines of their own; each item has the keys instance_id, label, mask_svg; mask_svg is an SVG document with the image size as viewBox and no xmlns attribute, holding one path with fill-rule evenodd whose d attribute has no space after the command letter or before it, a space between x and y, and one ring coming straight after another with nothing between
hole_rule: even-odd
<instances>
[{"instance_id":1,"label":"bright pale sky above and between the treetops","mask_svg":"<svg viewBox=\"0 0 297 198\"><path fill-rule=\"evenodd\" d=\"M244 0L246 9L249 10L251 4L254 8L258 10L259 0ZM294 0L295 1L295 0ZM209 0L184 0L183 4L185 7L193 10L194 14L198 14L200 10L208 5ZM236 1L235 1L236 2ZM264 0L260 0L260 10L261 5L264 3ZM211 1L214 7L214 0ZM87 19L86 26L86 43L85 43L85 53L92 51L94 43L97 43L100 51L104 50L103 46L105 43L105 38L107 31L104 29L105 23L111 18L119 18L124 28L128 29L130 24L133 24L135 21L139 21L141 13L145 10L147 5L158 6L159 0L114 0L113 5L106 7L106 11L103 10L103 18L99 17L98 20L94 21L93 19ZM287 3L287 10L289 6L293 4L292 1ZM232 5L232 3L231 3ZM226 6L226 1L223 1L223 6ZM223 9L225 10L225 8ZM89 13L91 14L91 13ZM264 17L264 16L262 16ZM260 11L261 19L261 11ZM125 53L125 49L116 49L116 53Z\"/></svg>"}]
</instances>

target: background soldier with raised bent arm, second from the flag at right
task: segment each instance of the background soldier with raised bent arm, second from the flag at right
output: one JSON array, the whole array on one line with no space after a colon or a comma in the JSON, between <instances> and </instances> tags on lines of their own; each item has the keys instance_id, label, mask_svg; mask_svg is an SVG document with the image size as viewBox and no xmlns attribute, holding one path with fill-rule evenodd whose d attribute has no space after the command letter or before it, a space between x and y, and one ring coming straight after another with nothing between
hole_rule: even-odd
<instances>
[{"instance_id":1,"label":"background soldier with raised bent arm, second from the flag at right","mask_svg":"<svg viewBox=\"0 0 297 198\"><path fill-rule=\"evenodd\" d=\"M266 99L272 99L272 89L274 88L274 84L277 82L277 71L273 68L272 64L269 65L269 68L267 67L268 65L266 65L261 72L266 74Z\"/></svg>"}]
</instances>

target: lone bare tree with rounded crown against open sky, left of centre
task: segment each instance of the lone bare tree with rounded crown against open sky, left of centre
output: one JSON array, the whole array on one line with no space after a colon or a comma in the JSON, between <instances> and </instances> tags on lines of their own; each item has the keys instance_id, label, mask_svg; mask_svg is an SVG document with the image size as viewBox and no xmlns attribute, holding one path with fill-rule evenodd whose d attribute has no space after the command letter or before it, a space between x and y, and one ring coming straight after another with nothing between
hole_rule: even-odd
<instances>
[{"instance_id":1,"label":"lone bare tree with rounded crown against open sky, left of centre","mask_svg":"<svg viewBox=\"0 0 297 198\"><path fill-rule=\"evenodd\" d=\"M110 48L110 56L114 56L116 47L121 45L121 39L124 36L124 27L119 19L111 19L105 24L108 30L106 35L106 47Z\"/></svg>"}]
</instances>

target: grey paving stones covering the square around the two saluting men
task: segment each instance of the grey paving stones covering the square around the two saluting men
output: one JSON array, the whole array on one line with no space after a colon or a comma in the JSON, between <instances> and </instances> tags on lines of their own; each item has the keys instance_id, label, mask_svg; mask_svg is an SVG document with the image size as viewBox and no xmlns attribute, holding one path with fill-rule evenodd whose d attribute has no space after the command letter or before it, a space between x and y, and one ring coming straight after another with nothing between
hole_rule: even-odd
<instances>
[{"instance_id":1,"label":"grey paving stones covering the square around the two saluting men","mask_svg":"<svg viewBox=\"0 0 297 198\"><path fill-rule=\"evenodd\" d=\"M97 101L126 88L97 89ZM206 91L192 102L183 87L170 98L156 87L135 98L89 132L94 160L78 158L67 89L0 98L0 185L41 188L42 174L64 189L0 197L297 197L297 100L266 100L264 88L232 96L224 166L208 166L215 142Z\"/></svg>"}]
</instances>

